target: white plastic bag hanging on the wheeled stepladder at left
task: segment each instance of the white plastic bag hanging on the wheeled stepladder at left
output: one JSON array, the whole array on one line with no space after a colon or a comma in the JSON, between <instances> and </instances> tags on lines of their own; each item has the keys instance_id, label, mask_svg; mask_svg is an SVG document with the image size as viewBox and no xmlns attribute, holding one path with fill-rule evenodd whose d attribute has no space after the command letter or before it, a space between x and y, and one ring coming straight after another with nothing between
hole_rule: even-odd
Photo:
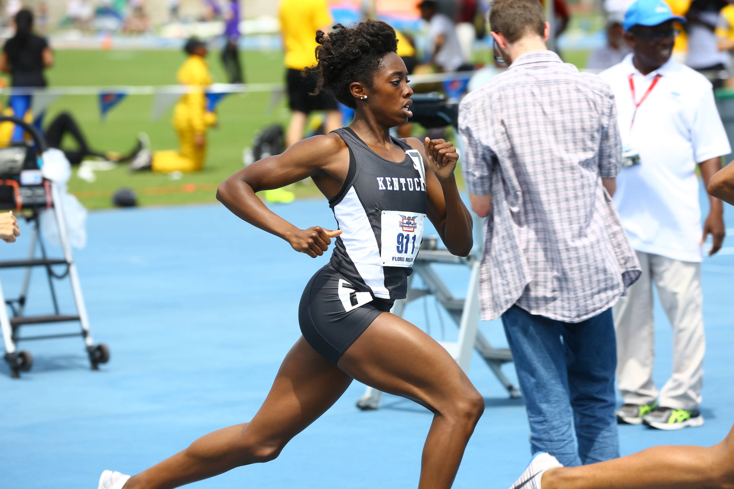
<instances>
[{"instance_id":1,"label":"white plastic bag hanging on the wheeled stepladder at left","mask_svg":"<svg viewBox=\"0 0 734 489\"><path fill-rule=\"evenodd\" d=\"M71 164L61 150L50 148L43 152L43 177L56 184L61 194L60 202L64 210L66 232L69 244L76 249L87 246L87 209L81 205L76 196L68 194L66 183L71 177ZM59 226L56 222L53 209L43 210L40 215L40 229L43 237L54 246L61 246Z\"/></svg>"}]
</instances>

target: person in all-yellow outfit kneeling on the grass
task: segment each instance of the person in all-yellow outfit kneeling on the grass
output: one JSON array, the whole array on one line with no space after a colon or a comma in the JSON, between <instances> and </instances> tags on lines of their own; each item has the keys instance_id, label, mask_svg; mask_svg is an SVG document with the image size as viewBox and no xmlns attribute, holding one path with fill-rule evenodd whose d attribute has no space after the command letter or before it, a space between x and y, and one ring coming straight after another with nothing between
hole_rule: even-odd
<instances>
[{"instance_id":1,"label":"person in all-yellow outfit kneeling on the grass","mask_svg":"<svg viewBox=\"0 0 734 489\"><path fill-rule=\"evenodd\" d=\"M153 172L198 172L206 159L206 130L217 123L214 112L206 111L206 89L211 74L206 65L206 44L192 37L183 48L189 55L178 69L178 82L189 92L181 97L173 110L173 129L178 134L179 150L150 153L148 158L136 158L130 163L133 172L151 169Z\"/></svg>"}]
</instances>

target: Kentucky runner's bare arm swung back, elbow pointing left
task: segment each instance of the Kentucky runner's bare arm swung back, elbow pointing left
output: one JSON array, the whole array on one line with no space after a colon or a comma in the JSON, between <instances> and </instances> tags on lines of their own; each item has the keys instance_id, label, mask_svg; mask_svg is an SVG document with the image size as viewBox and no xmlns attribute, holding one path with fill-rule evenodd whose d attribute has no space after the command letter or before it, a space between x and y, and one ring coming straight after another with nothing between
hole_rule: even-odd
<instances>
[{"instance_id":1,"label":"Kentucky runner's bare arm swung back, elbow pointing left","mask_svg":"<svg viewBox=\"0 0 734 489\"><path fill-rule=\"evenodd\" d=\"M331 238L341 235L314 226L299 229L270 210L255 192L281 188L316 177L327 198L344 184L349 171L349 149L338 136L313 136L299 141L280 155L270 156L241 169L217 188L217 200L253 226L276 235L294 250L315 258L324 254ZM333 180L333 182L331 181Z\"/></svg>"}]
</instances>

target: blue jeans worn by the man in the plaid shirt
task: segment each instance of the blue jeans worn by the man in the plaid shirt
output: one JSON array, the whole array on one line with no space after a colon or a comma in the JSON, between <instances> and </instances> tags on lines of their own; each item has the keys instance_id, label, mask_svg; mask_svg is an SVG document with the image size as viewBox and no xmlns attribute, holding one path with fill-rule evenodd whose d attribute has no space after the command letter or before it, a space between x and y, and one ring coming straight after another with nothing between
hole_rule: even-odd
<instances>
[{"instance_id":1,"label":"blue jeans worn by the man in the plaid shirt","mask_svg":"<svg viewBox=\"0 0 734 489\"><path fill-rule=\"evenodd\" d=\"M502 323L528 411L531 452L548 452L564 466L619 457L611 309L564 323L512 306Z\"/></svg>"}]
</instances>

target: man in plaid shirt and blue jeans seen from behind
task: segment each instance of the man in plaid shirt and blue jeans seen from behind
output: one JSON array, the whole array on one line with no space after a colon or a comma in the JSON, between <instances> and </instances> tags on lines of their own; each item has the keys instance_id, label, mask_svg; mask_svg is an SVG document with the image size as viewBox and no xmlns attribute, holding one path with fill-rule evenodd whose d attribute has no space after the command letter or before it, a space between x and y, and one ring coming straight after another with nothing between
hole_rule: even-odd
<instances>
[{"instance_id":1,"label":"man in plaid shirt and blue jeans seen from behind","mask_svg":"<svg viewBox=\"0 0 734 489\"><path fill-rule=\"evenodd\" d=\"M546 50L537 0L495 0L490 23L510 67L459 106L472 208L488 216L482 319L502 317L532 451L564 466L608 460L619 456L611 306L640 274L610 196L614 95Z\"/></svg>"}]
</instances>

